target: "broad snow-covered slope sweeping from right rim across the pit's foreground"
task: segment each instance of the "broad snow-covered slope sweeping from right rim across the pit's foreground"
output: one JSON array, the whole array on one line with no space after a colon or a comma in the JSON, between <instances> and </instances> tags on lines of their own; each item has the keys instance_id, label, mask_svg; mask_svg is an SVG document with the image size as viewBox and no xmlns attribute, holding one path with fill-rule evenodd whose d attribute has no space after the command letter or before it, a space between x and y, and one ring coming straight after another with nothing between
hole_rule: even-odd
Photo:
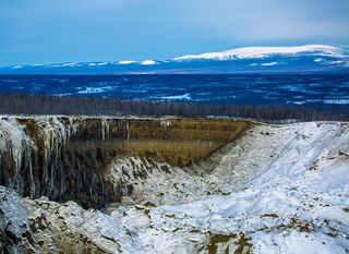
<instances>
[{"instance_id":1,"label":"broad snow-covered slope sweeping from right rim across the pit's foreground","mask_svg":"<svg viewBox=\"0 0 349 254\"><path fill-rule=\"evenodd\" d=\"M107 253L348 253L348 123L255 125L209 160L208 171L205 161L154 169L105 213L23 202L51 229ZM120 179L125 165L115 161L109 177L135 181Z\"/></svg>"}]
</instances>

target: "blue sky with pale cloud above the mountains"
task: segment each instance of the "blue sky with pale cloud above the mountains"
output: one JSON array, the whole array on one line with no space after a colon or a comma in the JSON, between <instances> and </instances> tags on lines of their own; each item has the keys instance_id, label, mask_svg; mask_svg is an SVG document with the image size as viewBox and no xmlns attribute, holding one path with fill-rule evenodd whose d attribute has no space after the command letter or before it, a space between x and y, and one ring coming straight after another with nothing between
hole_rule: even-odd
<instances>
[{"instance_id":1,"label":"blue sky with pale cloud above the mountains","mask_svg":"<svg viewBox=\"0 0 349 254\"><path fill-rule=\"evenodd\" d=\"M1 0L0 65L349 46L349 0Z\"/></svg>"}]
</instances>

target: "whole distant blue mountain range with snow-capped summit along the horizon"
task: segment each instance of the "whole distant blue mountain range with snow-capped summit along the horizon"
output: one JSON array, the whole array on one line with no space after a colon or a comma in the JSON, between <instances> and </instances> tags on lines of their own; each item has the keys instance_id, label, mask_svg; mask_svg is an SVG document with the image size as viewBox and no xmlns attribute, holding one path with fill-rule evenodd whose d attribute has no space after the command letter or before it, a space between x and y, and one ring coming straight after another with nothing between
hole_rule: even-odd
<instances>
[{"instance_id":1,"label":"whole distant blue mountain range with snow-capped summit along the horizon","mask_svg":"<svg viewBox=\"0 0 349 254\"><path fill-rule=\"evenodd\" d=\"M327 45L245 47L166 61L65 62L0 68L0 74L349 73L347 49Z\"/></svg>"}]
</instances>

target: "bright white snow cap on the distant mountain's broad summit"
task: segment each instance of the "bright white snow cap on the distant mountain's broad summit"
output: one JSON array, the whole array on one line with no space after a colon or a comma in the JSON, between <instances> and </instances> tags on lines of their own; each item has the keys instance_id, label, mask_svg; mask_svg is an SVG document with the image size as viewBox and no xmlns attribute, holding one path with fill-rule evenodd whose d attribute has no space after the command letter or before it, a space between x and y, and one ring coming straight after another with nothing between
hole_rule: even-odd
<instances>
[{"instance_id":1,"label":"bright white snow cap on the distant mountain's broad summit","mask_svg":"<svg viewBox=\"0 0 349 254\"><path fill-rule=\"evenodd\" d=\"M270 55L315 53L316 56L346 58L342 49L327 45L305 45L292 47L244 47L222 52L207 52L201 55L186 55L173 58L173 61L183 60L231 60L264 58Z\"/></svg>"}]
</instances>

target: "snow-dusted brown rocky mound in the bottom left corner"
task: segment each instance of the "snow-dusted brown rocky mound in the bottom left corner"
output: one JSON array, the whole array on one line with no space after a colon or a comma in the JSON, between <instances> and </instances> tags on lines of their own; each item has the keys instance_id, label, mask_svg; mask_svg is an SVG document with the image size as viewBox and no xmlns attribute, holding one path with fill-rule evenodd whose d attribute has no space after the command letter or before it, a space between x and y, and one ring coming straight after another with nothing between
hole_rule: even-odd
<instances>
[{"instance_id":1,"label":"snow-dusted brown rocky mound in the bottom left corner","mask_svg":"<svg viewBox=\"0 0 349 254\"><path fill-rule=\"evenodd\" d=\"M107 253L79 230L77 219L68 221L82 211L73 202L22 199L13 190L0 186L0 253Z\"/></svg>"}]
</instances>

